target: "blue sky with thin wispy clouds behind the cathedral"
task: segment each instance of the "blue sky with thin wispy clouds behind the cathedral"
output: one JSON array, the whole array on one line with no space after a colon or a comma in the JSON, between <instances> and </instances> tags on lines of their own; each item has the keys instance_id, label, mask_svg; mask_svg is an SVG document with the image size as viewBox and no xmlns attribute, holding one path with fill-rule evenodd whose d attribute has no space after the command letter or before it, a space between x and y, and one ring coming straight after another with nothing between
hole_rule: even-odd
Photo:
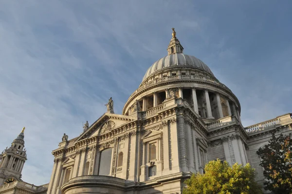
<instances>
[{"instance_id":1,"label":"blue sky with thin wispy clouds behind the cathedral","mask_svg":"<svg viewBox=\"0 0 292 194\"><path fill-rule=\"evenodd\" d=\"M291 113L291 10L289 0L3 0L0 148L25 126L23 180L49 182L63 133L80 135L109 97L121 114L172 27L238 97L244 126Z\"/></svg>"}]
</instances>

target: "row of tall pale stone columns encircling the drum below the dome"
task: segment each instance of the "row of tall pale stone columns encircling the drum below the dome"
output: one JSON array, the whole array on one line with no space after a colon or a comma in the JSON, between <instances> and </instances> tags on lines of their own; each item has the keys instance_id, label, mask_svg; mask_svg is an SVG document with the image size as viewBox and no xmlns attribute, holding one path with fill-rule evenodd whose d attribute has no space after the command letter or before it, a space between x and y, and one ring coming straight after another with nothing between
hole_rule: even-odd
<instances>
[{"instance_id":1,"label":"row of tall pale stone columns encircling the drum below the dome","mask_svg":"<svg viewBox=\"0 0 292 194\"><path fill-rule=\"evenodd\" d=\"M168 90L165 90L165 95L166 97L168 96ZM207 89L204 90L204 96L206 100L206 109L207 109L207 117L208 118L214 118L212 116L212 110L211 110L211 103L210 103L210 98L209 98L209 91ZM179 87L179 97L183 98L183 87ZM197 100L197 94L196 94L196 88L192 87L192 97L193 97L193 104L194 104L194 111L199 114L199 107L198 107L198 100ZM217 106L219 110L219 117L223 118L223 111L222 111L222 106L221 106L221 100L220 100L220 94L216 94L216 99L217 99ZM229 100L226 99L226 106L227 106L227 111L228 111L228 116L231 116L231 109L230 109L230 104ZM153 92L153 107L157 106L157 92ZM143 111L146 111L146 98L143 98ZM232 103L232 109L234 115L237 117L237 119L241 122L240 120L240 114L239 111L236 109L235 104Z\"/></svg>"}]
</instances>

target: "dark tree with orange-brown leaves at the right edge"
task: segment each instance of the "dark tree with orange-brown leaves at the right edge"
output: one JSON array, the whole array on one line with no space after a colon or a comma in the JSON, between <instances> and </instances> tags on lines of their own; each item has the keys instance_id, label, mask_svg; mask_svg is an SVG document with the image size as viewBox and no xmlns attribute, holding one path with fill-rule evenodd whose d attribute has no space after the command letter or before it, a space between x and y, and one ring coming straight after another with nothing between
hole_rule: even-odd
<instances>
[{"instance_id":1,"label":"dark tree with orange-brown leaves at the right edge","mask_svg":"<svg viewBox=\"0 0 292 194\"><path fill-rule=\"evenodd\" d=\"M264 168L265 190L274 194L292 194L292 139L272 134L269 144L259 148L260 166Z\"/></svg>"}]
</instances>

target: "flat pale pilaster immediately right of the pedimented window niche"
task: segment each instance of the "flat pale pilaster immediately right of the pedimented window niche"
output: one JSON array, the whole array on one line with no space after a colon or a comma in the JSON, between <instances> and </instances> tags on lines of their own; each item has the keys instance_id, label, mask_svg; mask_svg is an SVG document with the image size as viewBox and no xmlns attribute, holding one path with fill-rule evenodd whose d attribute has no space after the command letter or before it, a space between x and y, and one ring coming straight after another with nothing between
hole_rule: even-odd
<instances>
[{"instance_id":1,"label":"flat pale pilaster immediately right of the pedimented window niche","mask_svg":"<svg viewBox=\"0 0 292 194\"><path fill-rule=\"evenodd\" d=\"M168 121L162 121L162 130L163 130L163 163L164 169L162 175L167 175L169 172L169 137L168 137Z\"/></svg>"}]
</instances>

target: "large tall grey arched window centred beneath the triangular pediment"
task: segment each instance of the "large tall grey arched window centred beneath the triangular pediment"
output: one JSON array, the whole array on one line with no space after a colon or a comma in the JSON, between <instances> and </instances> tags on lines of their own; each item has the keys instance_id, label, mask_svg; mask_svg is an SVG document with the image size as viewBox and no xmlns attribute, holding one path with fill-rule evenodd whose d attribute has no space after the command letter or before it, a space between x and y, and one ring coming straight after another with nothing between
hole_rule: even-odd
<instances>
[{"instance_id":1,"label":"large tall grey arched window centred beneath the triangular pediment","mask_svg":"<svg viewBox=\"0 0 292 194\"><path fill-rule=\"evenodd\" d=\"M100 153L98 175L110 175L112 148L103 150Z\"/></svg>"}]
</instances>

